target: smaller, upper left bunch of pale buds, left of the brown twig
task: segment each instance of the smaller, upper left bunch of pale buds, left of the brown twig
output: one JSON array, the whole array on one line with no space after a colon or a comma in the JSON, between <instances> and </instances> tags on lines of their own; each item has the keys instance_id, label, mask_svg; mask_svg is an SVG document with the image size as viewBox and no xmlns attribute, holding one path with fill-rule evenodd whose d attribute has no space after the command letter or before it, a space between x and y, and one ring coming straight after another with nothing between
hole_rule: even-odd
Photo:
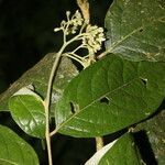
<instances>
[{"instance_id":1,"label":"smaller, upper left bunch of pale buds, left of the brown twig","mask_svg":"<svg viewBox=\"0 0 165 165\"><path fill-rule=\"evenodd\" d=\"M70 11L66 12L67 21L62 21L61 28L54 29L54 32L63 31L65 35L75 34L78 26L82 25L84 19L79 11L77 10L75 14L70 18Z\"/></svg>"}]
</instances>

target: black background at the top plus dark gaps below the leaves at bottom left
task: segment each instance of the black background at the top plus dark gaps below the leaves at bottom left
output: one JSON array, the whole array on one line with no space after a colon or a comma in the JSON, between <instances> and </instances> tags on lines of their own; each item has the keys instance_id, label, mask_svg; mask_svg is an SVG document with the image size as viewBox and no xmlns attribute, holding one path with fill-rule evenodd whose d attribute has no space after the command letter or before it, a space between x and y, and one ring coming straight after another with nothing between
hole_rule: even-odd
<instances>
[{"instance_id":1,"label":"black background at the top plus dark gaps below the leaves at bottom left","mask_svg":"<svg viewBox=\"0 0 165 165\"><path fill-rule=\"evenodd\" d=\"M91 22L103 26L111 0L89 0ZM56 52L61 35L54 28L65 19L67 10L78 9L76 0L0 0L0 92L4 91L25 70L45 54ZM25 135L11 121L10 114L1 114L12 130L33 145L41 164L46 165L46 152L41 141ZM80 165L95 153L94 139L74 139L56 135L53 139L53 158L57 165Z\"/></svg>"}]
</instances>

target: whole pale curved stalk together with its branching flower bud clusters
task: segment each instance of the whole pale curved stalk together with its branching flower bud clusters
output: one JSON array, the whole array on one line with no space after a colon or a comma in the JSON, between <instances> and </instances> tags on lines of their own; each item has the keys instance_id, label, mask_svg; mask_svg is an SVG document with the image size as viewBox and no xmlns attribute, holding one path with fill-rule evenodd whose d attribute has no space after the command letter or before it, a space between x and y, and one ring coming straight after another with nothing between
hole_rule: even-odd
<instances>
[{"instance_id":1,"label":"whole pale curved stalk together with its branching flower bud clusters","mask_svg":"<svg viewBox=\"0 0 165 165\"><path fill-rule=\"evenodd\" d=\"M51 136L56 133L56 130L51 133L50 130L50 107L51 107L51 98L52 98L52 87L53 81L59 65L59 61L62 56L67 56L72 59L77 61L82 65L84 68L88 67L91 63L95 62L95 53L101 50L101 44L106 40L103 35L103 29L98 28L97 25L90 25L87 23L85 19L82 19L80 12L77 10L73 16L70 16L70 12L66 12L67 21L62 21L61 28L55 28L54 32L62 31L63 32L63 46L59 52L56 54L55 62L53 63L53 67L51 70L46 98L44 100L45 106L45 116L46 116L46 129L45 129L45 138L47 145L47 154L48 154L48 165L53 165L52 160L52 150L51 150ZM72 38L68 38L68 35L73 35ZM72 52L65 52L66 47L73 42L81 41L80 45L73 50ZM81 48L86 48L88 54L85 56L79 56L77 52Z\"/></svg>"}]
</instances>

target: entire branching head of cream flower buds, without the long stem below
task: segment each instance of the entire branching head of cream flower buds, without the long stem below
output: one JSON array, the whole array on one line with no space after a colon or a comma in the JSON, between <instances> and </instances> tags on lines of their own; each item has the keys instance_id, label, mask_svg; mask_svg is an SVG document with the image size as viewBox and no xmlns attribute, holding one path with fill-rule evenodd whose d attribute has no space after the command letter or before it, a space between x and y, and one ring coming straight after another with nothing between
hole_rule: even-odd
<instances>
[{"instance_id":1,"label":"entire branching head of cream flower buds, without the long stem below","mask_svg":"<svg viewBox=\"0 0 165 165\"><path fill-rule=\"evenodd\" d=\"M79 62L84 68L86 68L95 62L95 53L101 50L102 42L106 40L103 29L87 24L78 10L73 16L70 16L70 12L67 11L66 16L67 21L62 21L61 28L56 28L54 31L63 31L64 44L66 45L75 41L81 41L81 44L76 50L65 53L64 55ZM67 41L67 35L69 34L75 35ZM88 55L84 57L77 55L77 51L80 48L87 48Z\"/></svg>"}]
</instances>

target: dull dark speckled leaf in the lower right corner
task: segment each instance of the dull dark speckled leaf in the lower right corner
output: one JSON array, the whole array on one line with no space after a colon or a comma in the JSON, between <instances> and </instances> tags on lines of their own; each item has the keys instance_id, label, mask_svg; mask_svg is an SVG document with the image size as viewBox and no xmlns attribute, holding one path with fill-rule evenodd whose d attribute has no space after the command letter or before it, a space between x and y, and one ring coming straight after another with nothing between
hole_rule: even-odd
<instances>
[{"instance_id":1,"label":"dull dark speckled leaf in the lower right corner","mask_svg":"<svg viewBox=\"0 0 165 165\"><path fill-rule=\"evenodd\" d=\"M139 124L134 132L144 130L158 165L165 164L165 110ZM145 152L145 148L142 146Z\"/></svg>"}]
</instances>

